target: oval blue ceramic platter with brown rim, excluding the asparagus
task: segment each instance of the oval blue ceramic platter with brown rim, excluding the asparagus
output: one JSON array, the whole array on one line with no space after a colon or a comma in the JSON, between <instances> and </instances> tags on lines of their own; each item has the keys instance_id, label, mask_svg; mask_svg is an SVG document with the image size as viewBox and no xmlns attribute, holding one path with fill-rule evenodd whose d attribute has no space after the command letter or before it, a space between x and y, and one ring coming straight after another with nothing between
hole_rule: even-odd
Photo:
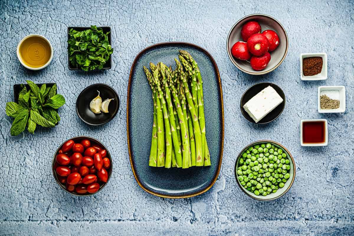
<instances>
[{"instance_id":1,"label":"oval blue ceramic platter with brown rim, excluding the asparagus","mask_svg":"<svg viewBox=\"0 0 354 236\"><path fill-rule=\"evenodd\" d=\"M178 50L188 51L198 63L203 79L206 138L211 166L188 169L150 167L149 155L153 123L152 91L143 66L163 62L175 69ZM137 183L150 194L167 198L193 197L215 183L222 162L224 108L217 65L205 49L185 42L165 42L145 48L130 70L127 96L127 137L130 163Z\"/></svg>"}]
</instances>

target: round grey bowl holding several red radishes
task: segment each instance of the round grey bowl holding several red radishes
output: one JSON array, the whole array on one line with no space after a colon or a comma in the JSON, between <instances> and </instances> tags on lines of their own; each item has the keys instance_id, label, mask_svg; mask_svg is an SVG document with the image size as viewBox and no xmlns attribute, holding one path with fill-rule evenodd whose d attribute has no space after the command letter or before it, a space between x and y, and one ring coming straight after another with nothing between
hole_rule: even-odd
<instances>
[{"instance_id":1,"label":"round grey bowl holding several red radishes","mask_svg":"<svg viewBox=\"0 0 354 236\"><path fill-rule=\"evenodd\" d=\"M289 42L279 21L264 14L253 14L233 25L226 47L238 69L251 75L264 75L284 61Z\"/></svg>"}]
</instances>

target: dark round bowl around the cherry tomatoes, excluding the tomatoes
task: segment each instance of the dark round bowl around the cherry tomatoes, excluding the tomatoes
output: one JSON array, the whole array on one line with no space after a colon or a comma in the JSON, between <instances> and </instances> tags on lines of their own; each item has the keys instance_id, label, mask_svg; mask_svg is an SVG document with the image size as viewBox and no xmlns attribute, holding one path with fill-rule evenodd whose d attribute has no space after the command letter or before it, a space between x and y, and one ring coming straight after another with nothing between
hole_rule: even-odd
<instances>
[{"instance_id":1,"label":"dark round bowl around the cherry tomatoes, excluding the tomatoes","mask_svg":"<svg viewBox=\"0 0 354 236\"><path fill-rule=\"evenodd\" d=\"M112 157L111 157L111 155L110 155L108 149L106 148L106 146L104 146L104 145L103 145L101 142L99 142L97 139L94 139L94 138L91 138L91 137L78 136L78 137L70 138L70 139L66 140L64 143L66 143L66 142L69 141L69 140L74 140L75 143L80 143L82 139L89 139L90 142L91 142L91 145L93 145L93 144L99 145L99 146L101 146L102 148L104 148L104 149L107 151L107 156L106 156L106 157L107 157L107 158L109 159L109 161L110 161L110 168L109 168L109 170L107 170L107 172L108 172L108 179L107 179L107 182L106 182L106 183L104 183L104 182L98 182L100 186L99 186L99 189L98 189L97 192L99 192L99 191L101 191L101 190L104 188L104 186L107 185L107 183L109 182L109 179L110 179L110 177L111 177L111 175L112 175L112 170L113 170ZM90 194L89 192L87 192L86 194L78 194L78 193L76 193L76 192L70 192L70 191L68 191L68 190L65 188L65 184L62 184L62 183L59 182L59 180L58 180L59 175L57 174L57 172L56 172L55 169L57 168L57 166L60 166L60 165L56 162L55 158L56 158L56 156L59 154L59 150L62 148L62 146L63 146L64 143L62 143L62 144L58 147L58 149L55 151L54 156L53 156L53 160L52 160L52 173L53 173L53 176L54 176L55 181L56 181L57 184L60 186L60 188L62 188L63 190L67 191L69 194L72 194L72 195L75 195L75 196L84 197L84 196L90 196L90 195L93 195L93 194L97 194L97 192L94 192L93 194ZM70 157L70 156L69 156L69 157ZM70 165L70 164L69 164L69 165ZM64 178L65 178L65 177L64 177Z\"/></svg>"}]
</instances>

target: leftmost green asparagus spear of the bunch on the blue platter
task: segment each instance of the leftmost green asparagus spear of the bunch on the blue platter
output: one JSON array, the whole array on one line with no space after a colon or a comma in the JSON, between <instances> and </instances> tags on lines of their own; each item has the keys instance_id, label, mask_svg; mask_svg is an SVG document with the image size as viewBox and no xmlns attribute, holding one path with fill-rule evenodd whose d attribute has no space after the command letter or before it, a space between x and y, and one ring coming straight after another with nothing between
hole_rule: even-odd
<instances>
[{"instance_id":1,"label":"leftmost green asparagus spear of the bunch on the blue platter","mask_svg":"<svg viewBox=\"0 0 354 236\"><path fill-rule=\"evenodd\" d=\"M144 67L144 71L146 74L146 77L149 81L151 90L152 90L152 95L153 95L153 102L154 102L154 121L153 121L153 131L152 131L152 138L151 138L151 149L150 149L150 157L149 157L149 166L154 166L156 167L157 165L157 115L156 115L156 89L154 86L154 82L152 79L152 75L150 71Z\"/></svg>"}]
</instances>

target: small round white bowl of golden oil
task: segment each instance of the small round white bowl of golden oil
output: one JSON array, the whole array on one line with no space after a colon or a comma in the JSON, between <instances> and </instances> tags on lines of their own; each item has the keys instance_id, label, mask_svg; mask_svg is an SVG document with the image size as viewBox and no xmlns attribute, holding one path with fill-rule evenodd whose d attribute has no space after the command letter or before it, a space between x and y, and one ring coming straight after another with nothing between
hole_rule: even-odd
<instances>
[{"instance_id":1,"label":"small round white bowl of golden oil","mask_svg":"<svg viewBox=\"0 0 354 236\"><path fill-rule=\"evenodd\" d=\"M30 36L19 46L19 54L24 64L38 68L45 65L51 57L51 47L40 36Z\"/></svg>"}]
</instances>

